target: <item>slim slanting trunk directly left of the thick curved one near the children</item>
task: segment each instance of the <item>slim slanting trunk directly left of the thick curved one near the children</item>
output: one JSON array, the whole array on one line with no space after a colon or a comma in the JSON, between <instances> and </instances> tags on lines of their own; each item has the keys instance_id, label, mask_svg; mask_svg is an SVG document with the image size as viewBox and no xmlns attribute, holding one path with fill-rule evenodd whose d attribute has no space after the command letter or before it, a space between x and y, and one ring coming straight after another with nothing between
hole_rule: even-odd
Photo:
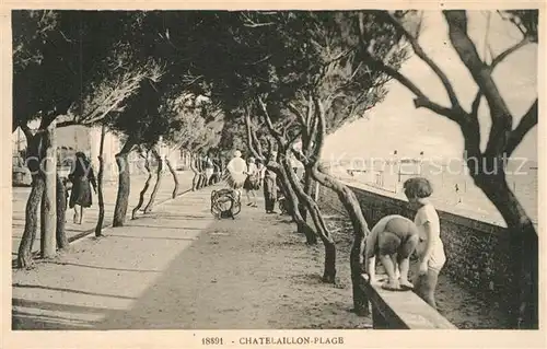
<instances>
[{"instance_id":1,"label":"slim slanting trunk directly left of the thick curved one near the children","mask_svg":"<svg viewBox=\"0 0 547 349\"><path fill-rule=\"evenodd\" d=\"M315 202L301 187L299 179L291 167L290 162L286 159L282 161L283 168L286 173L289 175L289 183L292 188L296 193L299 201L305 209L310 212L312 217L313 223L317 231L317 234L325 246L325 269L323 272L323 282L335 283L336 282L336 245L330 236L328 229L325 224L325 220L323 219L317 202ZM301 210L295 210L300 212Z\"/></svg>"}]
</instances>

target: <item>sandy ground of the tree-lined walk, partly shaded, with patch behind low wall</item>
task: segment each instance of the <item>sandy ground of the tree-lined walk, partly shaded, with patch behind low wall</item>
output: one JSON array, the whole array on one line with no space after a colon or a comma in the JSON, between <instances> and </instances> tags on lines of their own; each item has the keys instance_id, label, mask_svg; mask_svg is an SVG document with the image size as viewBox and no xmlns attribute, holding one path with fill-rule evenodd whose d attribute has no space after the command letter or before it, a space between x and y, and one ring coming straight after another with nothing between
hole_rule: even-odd
<instances>
[{"instance_id":1,"label":"sandy ground of the tree-lined walk, partly shaded, with patch behind low wall","mask_svg":"<svg viewBox=\"0 0 547 349\"><path fill-rule=\"evenodd\" d=\"M56 260L13 272L14 329L370 328L352 306L351 233L327 217L338 284L321 282L323 246L306 246L288 217L244 206L214 220L211 188L149 217L85 237ZM441 312L461 328L501 327L499 314L442 279ZM486 311L488 310L488 311Z\"/></svg>"}]
</instances>

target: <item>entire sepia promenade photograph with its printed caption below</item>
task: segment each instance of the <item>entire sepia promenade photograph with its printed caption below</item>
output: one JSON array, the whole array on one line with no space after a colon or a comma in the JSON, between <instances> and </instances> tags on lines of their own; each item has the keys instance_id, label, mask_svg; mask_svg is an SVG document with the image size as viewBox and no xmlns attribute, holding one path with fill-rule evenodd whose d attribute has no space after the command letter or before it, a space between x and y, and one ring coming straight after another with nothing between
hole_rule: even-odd
<instances>
[{"instance_id":1,"label":"entire sepia promenade photograph with its printed caption below","mask_svg":"<svg viewBox=\"0 0 547 349\"><path fill-rule=\"evenodd\" d=\"M539 12L10 9L11 330L539 329Z\"/></svg>"}]
</instances>

